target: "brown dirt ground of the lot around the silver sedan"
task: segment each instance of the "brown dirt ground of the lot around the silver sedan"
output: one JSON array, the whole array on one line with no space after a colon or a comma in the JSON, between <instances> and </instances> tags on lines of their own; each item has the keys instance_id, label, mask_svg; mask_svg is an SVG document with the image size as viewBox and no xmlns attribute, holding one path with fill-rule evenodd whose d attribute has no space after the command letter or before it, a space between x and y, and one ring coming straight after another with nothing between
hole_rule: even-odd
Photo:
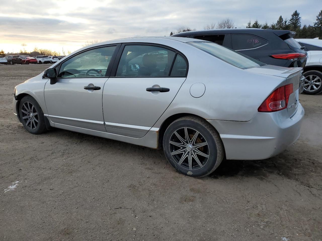
<instances>
[{"instance_id":1,"label":"brown dirt ground of the lot around the silver sedan","mask_svg":"<svg viewBox=\"0 0 322 241\"><path fill-rule=\"evenodd\" d=\"M12 113L14 86L49 66L0 66L1 241L322 240L322 94L300 95L301 136L283 153L197 179L162 150L29 134Z\"/></svg>"}]
</instances>

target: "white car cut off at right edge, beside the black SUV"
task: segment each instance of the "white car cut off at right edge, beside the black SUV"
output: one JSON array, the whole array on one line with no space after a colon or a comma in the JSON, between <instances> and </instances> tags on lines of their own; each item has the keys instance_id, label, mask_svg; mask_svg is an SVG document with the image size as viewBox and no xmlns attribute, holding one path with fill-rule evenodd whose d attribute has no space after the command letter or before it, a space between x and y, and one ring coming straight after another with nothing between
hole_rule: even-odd
<instances>
[{"instance_id":1,"label":"white car cut off at right edge, beside the black SUV","mask_svg":"<svg viewBox=\"0 0 322 241\"><path fill-rule=\"evenodd\" d=\"M308 52L308 60L304 67L305 94L319 94L322 92L322 40L296 39L298 43Z\"/></svg>"}]
</instances>

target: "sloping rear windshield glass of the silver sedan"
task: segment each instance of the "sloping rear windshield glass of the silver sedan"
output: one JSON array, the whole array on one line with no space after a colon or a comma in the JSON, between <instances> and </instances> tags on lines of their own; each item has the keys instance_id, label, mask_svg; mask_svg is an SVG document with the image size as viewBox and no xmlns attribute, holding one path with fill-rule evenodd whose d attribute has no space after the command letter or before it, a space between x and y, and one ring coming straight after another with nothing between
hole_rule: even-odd
<instances>
[{"instance_id":1,"label":"sloping rear windshield glass of the silver sedan","mask_svg":"<svg viewBox=\"0 0 322 241\"><path fill-rule=\"evenodd\" d=\"M219 44L210 42L188 42L188 44L241 69L248 69L265 65L260 61L257 61L232 49L223 47Z\"/></svg>"}]
</instances>

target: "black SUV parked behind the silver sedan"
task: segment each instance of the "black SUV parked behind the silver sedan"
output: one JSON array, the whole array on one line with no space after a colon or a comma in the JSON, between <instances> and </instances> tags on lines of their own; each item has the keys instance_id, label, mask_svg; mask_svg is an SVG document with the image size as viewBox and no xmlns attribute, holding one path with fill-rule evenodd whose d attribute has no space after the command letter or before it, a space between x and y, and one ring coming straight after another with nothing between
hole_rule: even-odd
<instances>
[{"instance_id":1,"label":"black SUV parked behind the silver sedan","mask_svg":"<svg viewBox=\"0 0 322 241\"><path fill-rule=\"evenodd\" d=\"M307 60L307 52L293 39L295 32L289 30L218 29L172 36L211 41L269 65L304 67Z\"/></svg>"}]
</instances>

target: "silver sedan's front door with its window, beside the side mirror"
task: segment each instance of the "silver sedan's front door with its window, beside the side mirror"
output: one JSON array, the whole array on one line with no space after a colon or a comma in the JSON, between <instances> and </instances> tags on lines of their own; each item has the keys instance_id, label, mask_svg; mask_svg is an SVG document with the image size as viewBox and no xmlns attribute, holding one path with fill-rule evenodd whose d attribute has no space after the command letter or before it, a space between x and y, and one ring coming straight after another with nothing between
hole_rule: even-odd
<instances>
[{"instance_id":1,"label":"silver sedan's front door with its window, beside the side mirror","mask_svg":"<svg viewBox=\"0 0 322 241\"><path fill-rule=\"evenodd\" d=\"M92 48L62 62L57 82L51 85L48 81L44 89L52 122L106 132L102 92L118 48Z\"/></svg>"}]
</instances>

